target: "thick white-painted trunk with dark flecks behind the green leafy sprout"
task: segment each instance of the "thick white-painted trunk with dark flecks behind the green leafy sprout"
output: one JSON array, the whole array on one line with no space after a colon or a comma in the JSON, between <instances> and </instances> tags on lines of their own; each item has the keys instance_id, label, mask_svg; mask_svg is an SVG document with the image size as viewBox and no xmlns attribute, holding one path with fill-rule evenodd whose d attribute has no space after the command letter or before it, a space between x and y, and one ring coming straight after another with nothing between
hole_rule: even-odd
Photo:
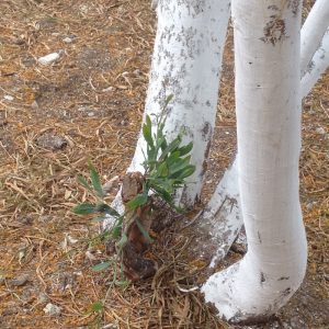
<instances>
[{"instance_id":1,"label":"thick white-painted trunk with dark flecks behind the green leafy sprout","mask_svg":"<svg viewBox=\"0 0 329 329\"><path fill-rule=\"evenodd\" d=\"M216 118L222 54L230 13L229 0L174 1L157 4L158 29L145 115L161 113L168 95L164 132L172 139L183 129L193 141L196 166L190 183L178 196L192 206L200 197ZM145 117L145 116L144 116ZM141 171L145 140L139 135L128 171Z\"/></svg>"}]
</instances>

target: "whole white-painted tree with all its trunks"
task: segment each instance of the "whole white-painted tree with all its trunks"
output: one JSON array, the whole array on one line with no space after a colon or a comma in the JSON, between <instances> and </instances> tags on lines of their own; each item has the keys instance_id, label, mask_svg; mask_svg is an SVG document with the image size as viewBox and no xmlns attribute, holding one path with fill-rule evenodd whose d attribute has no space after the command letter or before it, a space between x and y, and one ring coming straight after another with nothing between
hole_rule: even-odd
<instances>
[{"instance_id":1,"label":"whole white-painted tree with all its trunks","mask_svg":"<svg viewBox=\"0 0 329 329\"><path fill-rule=\"evenodd\" d=\"M178 201L191 206L201 193L212 140L230 1L156 4L158 31L145 113L158 114L166 95L173 94L166 132L170 138L184 127L185 140L194 144L196 172L178 192ZM231 321L272 315L305 274L300 102L328 66L329 2L316 2L302 30L302 48L300 5L299 0L232 1L238 157L194 226L211 236L211 265L225 257L246 226L245 258L203 287L206 300ZM143 171L144 148L140 136L128 171ZM120 194L114 206L121 209Z\"/></svg>"}]
</instances>

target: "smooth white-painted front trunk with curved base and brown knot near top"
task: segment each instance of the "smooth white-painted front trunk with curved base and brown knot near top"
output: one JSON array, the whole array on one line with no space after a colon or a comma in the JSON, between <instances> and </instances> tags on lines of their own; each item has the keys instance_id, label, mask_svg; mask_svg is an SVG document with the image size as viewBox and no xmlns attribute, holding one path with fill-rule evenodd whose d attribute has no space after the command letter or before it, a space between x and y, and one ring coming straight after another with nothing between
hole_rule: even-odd
<instances>
[{"instance_id":1,"label":"smooth white-painted front trunk with curved base and brown knot near top","mask_svg":"<svg viewBox=\"0 0 329 329\"><path fill-rule=\"evenodd\" d=\"M238 180L248 252L203 286L230 321L266 318L299 287L300 1L234 0Z\"/></svg>"}]
</instances>

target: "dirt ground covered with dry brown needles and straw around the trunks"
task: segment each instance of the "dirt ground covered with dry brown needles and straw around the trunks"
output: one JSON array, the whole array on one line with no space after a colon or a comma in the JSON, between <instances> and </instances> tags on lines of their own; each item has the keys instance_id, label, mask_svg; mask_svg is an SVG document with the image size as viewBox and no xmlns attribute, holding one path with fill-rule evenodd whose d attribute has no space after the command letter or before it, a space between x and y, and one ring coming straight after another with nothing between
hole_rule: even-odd
<instances>
[{"instance_id":1,"label":"dirt ground covered with dry brown needles and straw around the trunks","mask_svg":"<svg viewBox=\"0 0 329 329\"><path fill-rule=\"evenodd\" d=\"M120 287L112 269L91 270L111 253L99 225L71 213L92 201L77 183L89 158L104 182L129 163L154 35L149 0L0 1L0 328L238 328L185 292L204 280L202 260L184 257L192 235L168 229L149 252L156 276ZM203 202L235 152L231 47L230 37ZM54 52L55 63L38 63ZM307 275L258 328L329 328L328 75L303 113Z\"/></svg>"}]
</instances>

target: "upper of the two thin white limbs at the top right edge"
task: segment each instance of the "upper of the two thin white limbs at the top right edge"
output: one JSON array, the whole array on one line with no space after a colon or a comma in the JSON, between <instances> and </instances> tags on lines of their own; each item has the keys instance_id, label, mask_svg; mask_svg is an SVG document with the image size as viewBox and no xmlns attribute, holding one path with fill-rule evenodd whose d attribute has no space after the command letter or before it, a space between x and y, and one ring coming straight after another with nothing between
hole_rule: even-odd
<instances>
[{"instance_id":1,"label":"upper of the two thin white limbs at the top right edge","mask_svg":"<svg viewBox=\"0 0 329 329\"><path fill-rule=\"evenodd\" d=\"M319 48L324 34L329 26L329 1L317 0L309 12L300 33L302 76Z\"/></svg>"}]
</instances>

